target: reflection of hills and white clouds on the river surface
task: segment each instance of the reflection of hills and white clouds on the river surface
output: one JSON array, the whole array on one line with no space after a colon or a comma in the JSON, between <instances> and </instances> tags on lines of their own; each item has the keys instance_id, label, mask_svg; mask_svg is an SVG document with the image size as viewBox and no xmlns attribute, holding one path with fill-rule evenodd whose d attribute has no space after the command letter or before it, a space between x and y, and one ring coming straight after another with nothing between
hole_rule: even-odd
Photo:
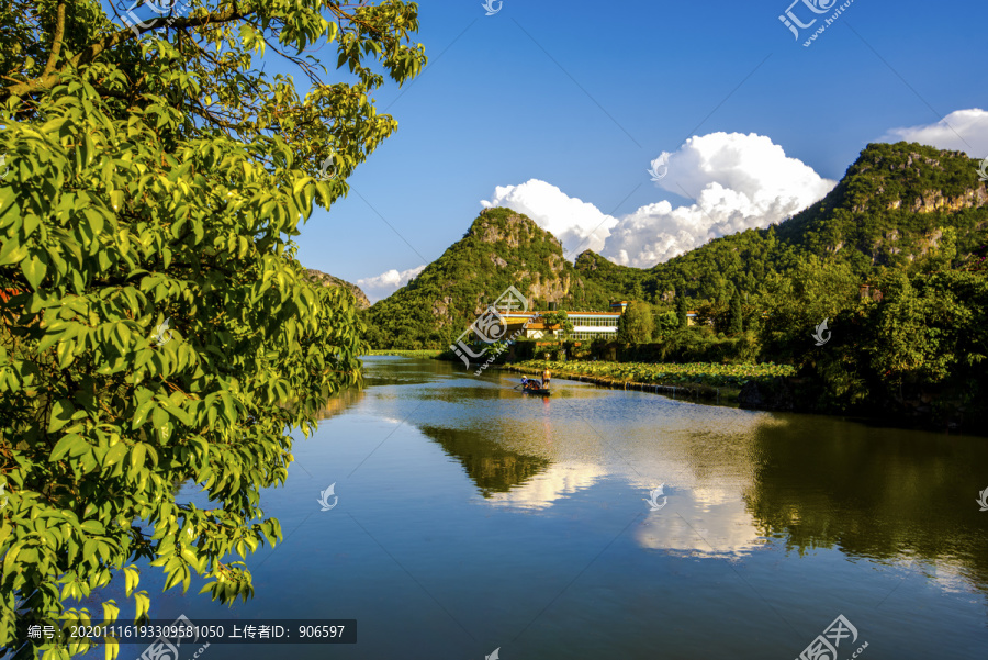
<instances>
[{"instance_id":1,"label":"reflection of hills and white clouds on the river surface","mask_svg":"<svg viewBox=\"0 0 988 660\"><path fill-rule=\"evenodd\" d=\"M642 548L730 557L775 539L799 553L921 561L931 574L988 589L986 525L976 481L964 478L988 467L983 438L561 380L551 398L530 398L507 373L462 377L436 361L388 367L386 377L371 367L370 380L423 385L415 398L428 412L408 423L462 467L487 505L547 510L607 482L642 500L633 533ZM659 484L667 504L651 512L643 500Z\"/></svg>"}]
</instances>

